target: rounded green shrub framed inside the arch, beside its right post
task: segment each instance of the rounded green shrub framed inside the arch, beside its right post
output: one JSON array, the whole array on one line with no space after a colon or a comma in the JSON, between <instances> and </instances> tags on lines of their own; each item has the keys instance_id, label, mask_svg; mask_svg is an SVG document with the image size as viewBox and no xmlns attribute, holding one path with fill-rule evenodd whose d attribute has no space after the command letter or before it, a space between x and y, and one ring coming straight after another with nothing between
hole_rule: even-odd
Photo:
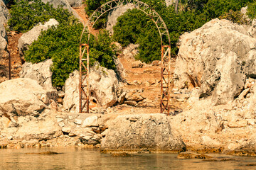
<instances>
[{"instance_id":1,"label":"rounded green shrub framed inside the arch, beside its right post","mask_svg":"<svg viewBox=\"0 0 256 170\"><path fill-rule=\"evenodd\" d=\"M137 9L128 10L117 19L113 39L123 47L130 43L139 43L139 56L143 62L159 60L161 57L161 40L151 18Z\"/></svg>"}]
</instances>

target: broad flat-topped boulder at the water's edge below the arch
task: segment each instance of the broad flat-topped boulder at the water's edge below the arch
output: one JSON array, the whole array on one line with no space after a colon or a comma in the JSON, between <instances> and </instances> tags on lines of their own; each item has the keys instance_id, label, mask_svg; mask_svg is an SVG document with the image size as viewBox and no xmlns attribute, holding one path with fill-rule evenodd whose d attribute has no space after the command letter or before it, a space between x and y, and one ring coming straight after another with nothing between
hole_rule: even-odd
<instances>
[{"instance_id":1,"label":"broad flat-topped boulder at the water's edge below the arch","mask_svg":"<svg viewBox=\"0 0 256 170\"><path fill-rule=\"evenodd\" d=\"M181 152L186 146L164 114L119 115L104 132L103 152Z\"/></svg>"}]
</instances>

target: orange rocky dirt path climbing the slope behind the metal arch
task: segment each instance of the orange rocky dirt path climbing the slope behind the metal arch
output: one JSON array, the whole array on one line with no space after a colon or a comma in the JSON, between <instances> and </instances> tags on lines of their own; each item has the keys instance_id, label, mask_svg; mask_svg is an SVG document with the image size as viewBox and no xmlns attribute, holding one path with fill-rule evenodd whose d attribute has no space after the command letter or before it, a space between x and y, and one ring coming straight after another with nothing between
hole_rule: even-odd
<instances>
[{"instance_id":1,"label":"orange rocky dirt path climbing the slope behind the metal arch","mask_svg":"<svg viewBox=\"0 0 256 170\"><path fill-rule=\"evenodd\" d=\"M123 50L125 52L125 49ZM118 57L123 67L123 78L125 82L120 85L122 91L141 95L143 101L137 102L137 106L127 103L117 105L110 112L113 113L160 113L161 101L161 66L159 61L154 64L145 64L143 67L135 67L136 60L131 55L121 54ZM171 74L174 74L175 60L171 60ZM172 89L173 87L171 87ZM183 94L171 94L171 112L179 112L186 106L182 98Z\"/></svg>"}]
</instances>

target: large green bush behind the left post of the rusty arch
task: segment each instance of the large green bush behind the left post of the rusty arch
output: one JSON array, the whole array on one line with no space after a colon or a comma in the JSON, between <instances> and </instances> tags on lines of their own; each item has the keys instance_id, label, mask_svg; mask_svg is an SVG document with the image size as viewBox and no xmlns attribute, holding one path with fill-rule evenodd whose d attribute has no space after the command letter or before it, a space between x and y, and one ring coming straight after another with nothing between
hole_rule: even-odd
<instances>
[{"instance_id":1,"label":"large green bush behind the left post of the rusty arch","mask_svg":"<svg viewBox=\"0 0 256 170\"><path fill-rule=\"evenodd\" d=\"M53 86L63 86L65 80L75 69L79 68L79 42L82 32L82 24L64 25L49 28L43 31L38 40L32 43L25 52L27 62L43 62L53 59ZM82 40L87 40L85 35ZM113 69L114 51L110 47L111 39L106 31L101 31L98 39L91 35L90 62L100 62L104 67Z\"/></svg>"}]
</instances>

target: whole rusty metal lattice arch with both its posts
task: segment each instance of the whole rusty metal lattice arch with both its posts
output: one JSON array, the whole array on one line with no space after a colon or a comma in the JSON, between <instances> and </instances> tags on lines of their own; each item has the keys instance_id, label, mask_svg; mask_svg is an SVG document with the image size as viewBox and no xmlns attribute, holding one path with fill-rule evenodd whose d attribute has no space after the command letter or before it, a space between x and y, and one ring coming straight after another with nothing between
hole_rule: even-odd
<instances>
[{"instance_id":1,"label":"whole rusty metal lattice arch with both its posts","mask_svg":"<svg viewBox=\"0 0 256 170\"><path fill-rule=\"evenodd\" d=\"M111 0L102 4L89 17L80 37L80 113L89 113L89 40L90 28L105 13L121 5L133 4L134 8L144 12L154 21L161 37L161 103L160 113L169 115L169 100L171 86L171 41L169 30L161 16L153 8L138 0ZM82 42L82 36L88 34L88 42ZM86 57L84 56L86 52Z\"/></svg>"}]
</instances>

